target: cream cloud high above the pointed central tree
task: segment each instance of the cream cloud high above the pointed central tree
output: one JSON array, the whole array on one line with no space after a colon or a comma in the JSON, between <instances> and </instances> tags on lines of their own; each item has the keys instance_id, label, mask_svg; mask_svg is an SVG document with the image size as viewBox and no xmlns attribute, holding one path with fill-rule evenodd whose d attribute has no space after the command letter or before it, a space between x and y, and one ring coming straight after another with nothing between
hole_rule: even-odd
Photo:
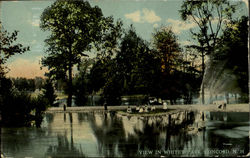
<instances>
[{"instance_id":1,"label":"cream cloud high above the pointed central tree","mask_svg":"<svg viewBox=\"0 0 250 158\"><path fill-rule=\"evenodd\" d=\"M157 16L153 10L147 8L143 8L142 11L137 10L133 13L125 14L125 17L138 23L154 23L161 21L161 18Z\"/></svg>"}]
</instances>

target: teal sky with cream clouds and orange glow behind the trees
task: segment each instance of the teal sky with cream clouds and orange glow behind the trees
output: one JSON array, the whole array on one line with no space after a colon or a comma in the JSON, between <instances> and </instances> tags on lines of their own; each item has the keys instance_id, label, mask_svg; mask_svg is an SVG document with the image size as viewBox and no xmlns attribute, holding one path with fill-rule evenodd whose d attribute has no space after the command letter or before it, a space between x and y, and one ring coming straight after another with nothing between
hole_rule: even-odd
<instances>
[{"instance_id":1,"label":"teal sky with cream clouds and orange glow behind the trees","mask_svg":"<svg viewBox=\"0 0 250 158\"><path fill-rule=\"evenodd\" d=\"M44 40L49 32L43 32L39 23L43 10L53 2L53 0L0 2L0 20L4 29L8 32L18 30L17 42L30 46L30 51L15 55L8 60L7 66L10 71L7 76L34 78L43 76L47 71L46 68L40 69L40 60L46 55ZM152 40L155 28L172 26L179 43L187 45L190 44L189 29L196 27L194 23L185 23L180 19L178 10L182 0L90 0L89 2L91 6L99 6L104 16L121 19L125 29L133 24L138 35L149 42ZM237 15L248 15L246 6L243 6Z\"/></svg>"}]
</instances>

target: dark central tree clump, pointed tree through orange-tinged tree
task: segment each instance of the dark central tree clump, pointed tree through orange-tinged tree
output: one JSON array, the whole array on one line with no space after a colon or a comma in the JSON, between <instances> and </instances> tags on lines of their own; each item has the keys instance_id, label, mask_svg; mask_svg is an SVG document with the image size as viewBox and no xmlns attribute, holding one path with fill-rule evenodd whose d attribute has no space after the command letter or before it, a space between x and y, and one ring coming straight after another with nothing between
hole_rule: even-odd
<instances>
[{"instance_id":1,"label":"dark central tree clump, pointed tree through orange-tinged tree","mask_svg":"<svg viewBox=\"0 0 250 158\"><path fill-rule=\"evenodd\" d=\"M199 90L199 73L191 62L184 62L171 28L156 30L153 35L154 49L150 49L133 27L125 31L114 56L99 56L93 64L89 92L102 92L108 105L120 104L123 95L135 94L170 99L172 103L186 97L191 103Z\"/></svg>"}]
</instances>

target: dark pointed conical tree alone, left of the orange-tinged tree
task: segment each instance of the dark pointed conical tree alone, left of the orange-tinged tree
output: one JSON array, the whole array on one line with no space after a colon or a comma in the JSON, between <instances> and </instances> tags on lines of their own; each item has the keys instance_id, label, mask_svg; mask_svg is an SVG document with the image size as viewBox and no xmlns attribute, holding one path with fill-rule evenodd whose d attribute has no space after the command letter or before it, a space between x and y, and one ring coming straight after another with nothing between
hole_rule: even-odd
<instances>
[{"instance_id":1,"label":"dark pointed conical tree alone, left of the orange-tinged tree","mask_svg":"<svg viewBox=\"0 0 250 158\"><path fill-rule=\"evenodd\" d=\"M149 43L140 38L133 27L122 38L115 61L124 95L149 94L152 76L157 71L157 59L149 49Z\"/></svg>"}]
</instances>

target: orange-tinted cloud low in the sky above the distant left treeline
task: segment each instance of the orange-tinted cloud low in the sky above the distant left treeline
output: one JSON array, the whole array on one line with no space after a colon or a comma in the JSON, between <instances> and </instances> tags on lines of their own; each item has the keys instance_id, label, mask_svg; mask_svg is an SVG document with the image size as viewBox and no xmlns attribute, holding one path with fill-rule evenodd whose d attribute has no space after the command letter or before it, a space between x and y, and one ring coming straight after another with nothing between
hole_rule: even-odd
<instances>
[{"instance_id":1,"label":"orange-tinted cloud low in the sky above the distant left treeline","mask_svg":"<svg viewBox=\"0 0 250 158\"><path fill-rule=\"evenodd\" d=\"M8 72L8 76L10 77L26 77L26 78L34 78L36 76L44 76L44 73L47 72L47 68L40 69L41 65L39 64L39 59L41 57L36 57L35 61L30 61L23 58L18 58L13 62L8 64L8 68L10 71Z\"/></svg>"}]
</instances>

